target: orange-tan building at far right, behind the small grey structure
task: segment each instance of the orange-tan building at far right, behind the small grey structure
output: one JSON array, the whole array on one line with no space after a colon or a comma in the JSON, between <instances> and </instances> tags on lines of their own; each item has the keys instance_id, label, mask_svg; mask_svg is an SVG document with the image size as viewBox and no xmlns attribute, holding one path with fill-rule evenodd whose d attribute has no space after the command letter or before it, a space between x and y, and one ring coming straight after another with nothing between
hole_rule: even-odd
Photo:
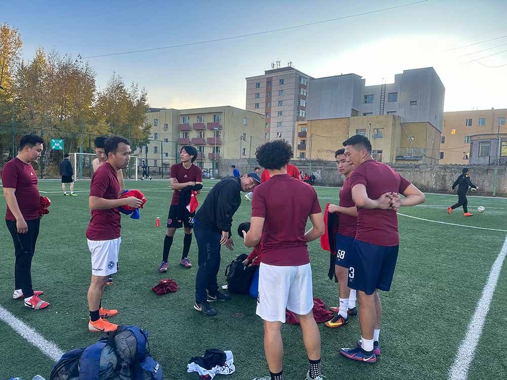
<instances>
[{"instance_id":1,"label":"orange-tan building at far right, behind the small grey structure","mask_svg":"<svg viewBox=\"0 0 507 380\"><path fill-rule=\"evenodd\" d=\"M505 108L444 112L439 164L468 164L470 137L507 132L505 118Z\"/></svg>"}]
</instances>

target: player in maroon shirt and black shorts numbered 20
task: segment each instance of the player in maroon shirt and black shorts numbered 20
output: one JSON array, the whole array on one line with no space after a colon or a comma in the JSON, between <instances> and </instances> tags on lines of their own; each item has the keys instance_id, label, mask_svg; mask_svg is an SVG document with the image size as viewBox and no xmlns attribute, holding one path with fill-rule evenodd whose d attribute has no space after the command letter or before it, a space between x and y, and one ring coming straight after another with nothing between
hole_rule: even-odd
<instances>
[{"instance_id":1,"label":"player in maroon shirt and black shorts numbered 20","mask_svg":"<svg viewBox=\"0 0 507 380\"><path fill-rule=\"evenodd\" d=\"M197 158L197 149L191 145L185 145L179 150L179 164L171 166L171 188L172 193L171 206L169 207L169 215L167 216L167 232L164 238L164 251L162 253L162 263L159 272L167 272L169 251L172 245L172 239L176 233L176 229L185 227L185 237L183 238L182 259L179 261L185 268L192 268L192 264L188 259L190 245L192 244L192 229L194 227L195 212L187 213L183 220L178 220L178 202L180 192L187 186L195 186L200 183L202 185L202 170L194 161ZM197 191L199 194L200 191Z\"/></svg>"}]
</instances>

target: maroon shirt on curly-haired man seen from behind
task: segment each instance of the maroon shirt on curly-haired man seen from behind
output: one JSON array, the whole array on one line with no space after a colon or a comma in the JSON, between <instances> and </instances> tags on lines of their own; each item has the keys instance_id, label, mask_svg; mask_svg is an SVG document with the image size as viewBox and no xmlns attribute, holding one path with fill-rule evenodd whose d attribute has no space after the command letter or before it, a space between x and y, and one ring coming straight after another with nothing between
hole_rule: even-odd
<instances>
[{"instance_id":1,"label":"maroon shirt on curly-haired man seen from behind","mask_svg":"<svg viewBox=\"0 0 507 380\"><path fill-rule=\"evenodd\" d=\"M252 216L264 218L261 262L280 267L310 262L305 229L310 214L320 213L312 186L279 174L255 188Z\"/></svg>"}]
</instances>

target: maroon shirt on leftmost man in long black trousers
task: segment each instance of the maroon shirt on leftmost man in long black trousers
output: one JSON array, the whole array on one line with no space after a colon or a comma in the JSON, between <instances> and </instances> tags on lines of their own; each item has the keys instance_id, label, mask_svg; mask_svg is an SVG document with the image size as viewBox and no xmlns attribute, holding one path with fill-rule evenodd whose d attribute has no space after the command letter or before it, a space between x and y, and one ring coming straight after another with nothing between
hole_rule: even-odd
<instances>
[{"instance_id":1,"label":"maroon shirt on leftmost man in long black trousers","mask_svg":"<svg viewBox=\"0 0 507 380\"><path fill-rule=\"evenodd\" d=\"M0 175L2 186L16 189L14 195L23 219L39 219L40 195L37 188L37 174L31 164L26 164L16 157L4 165ZM9 206L7 206L5 218L16 220Z\"/></svg>"}]
</instances>

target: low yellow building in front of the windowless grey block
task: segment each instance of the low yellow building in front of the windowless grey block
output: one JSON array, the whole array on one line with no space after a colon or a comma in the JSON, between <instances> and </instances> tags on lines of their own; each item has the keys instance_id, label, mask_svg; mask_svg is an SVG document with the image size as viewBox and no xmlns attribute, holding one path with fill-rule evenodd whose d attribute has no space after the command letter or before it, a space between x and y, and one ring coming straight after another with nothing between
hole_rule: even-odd
<instances>
[{"instance_id":1,"label":"low yellow building in front of the windowless grey block","mask_svg":"<svg viewBox=\"0 0 507 380\"><path fill-rule=\"evenodd\" d=\"M356 134L370 139L377 161L435 164L439 159L439 130L427 122L402 123L396 115L307 120L296 127L294 157L299 160L333 160L342 142Z\"/></svg>"}]
</instances>

